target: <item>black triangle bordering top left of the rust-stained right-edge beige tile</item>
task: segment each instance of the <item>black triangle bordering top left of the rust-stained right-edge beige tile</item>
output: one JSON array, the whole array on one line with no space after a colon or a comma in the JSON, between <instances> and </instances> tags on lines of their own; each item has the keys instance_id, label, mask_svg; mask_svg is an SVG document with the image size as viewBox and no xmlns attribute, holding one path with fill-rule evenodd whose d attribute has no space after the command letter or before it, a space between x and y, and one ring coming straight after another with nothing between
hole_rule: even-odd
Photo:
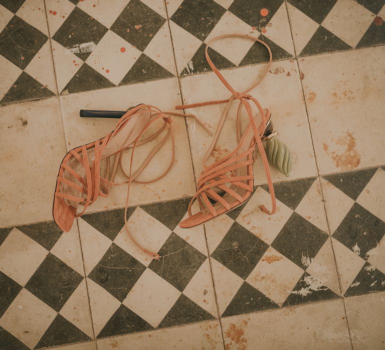
<instances>
[{"instance_id":1,"label":"black triangle bordering top left of the rust-stained right-edge beige tile","mask_svg":"<svg viewBox=\"0 0 385 350\"><path fill-rule=\"evenodd\" d=\"M342 41L338 36L320 25L306 46L302 49L300 56L342 51L348 50L349 48L351 47L346 42Z\"/></svg>"}]
</instances>

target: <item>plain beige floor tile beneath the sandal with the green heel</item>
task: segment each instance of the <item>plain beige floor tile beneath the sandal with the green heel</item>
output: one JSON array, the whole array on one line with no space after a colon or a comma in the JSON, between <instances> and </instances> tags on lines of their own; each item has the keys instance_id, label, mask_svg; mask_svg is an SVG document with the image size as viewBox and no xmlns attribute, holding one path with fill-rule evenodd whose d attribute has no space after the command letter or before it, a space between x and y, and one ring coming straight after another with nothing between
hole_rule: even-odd
<instances>
[{"instance_id":1,"label":"plain beige floor tile beneath the sandal with the green heel","mask_svg":"<svg viewBox=\"0 0 385 350\"><path fill-rule=\"evenodd\" d=\"M265 64L224 70L225 78L236 90L251 85L266 68ZM219 100L230 97L230 92L212 72L191 75L180 79L184 104ZM297 65L293 60L273 62L270 72L259 86L250 92L261 103L269 107L272 120L279 132L279 138L289 147L293 157L293 171L289 179L316 175L316 166L311 144L305 105ZM189 108L186 111L196 114L211 131L215 131L224 104ZM237 145L235 119L238 103L233 102L211 160L219 160ZM247 116L243 124L246 125ZM188 120L188 134L193 149L193 162L196 174L202 171L202 159L210 146L211 139L195 121ZM299 137L300 135L300 137ZM260 155L254 165L255 184L266 183L266 175ZM277 169L271 167L273 180L288 179Z\"/></svg>"}]
</instances>

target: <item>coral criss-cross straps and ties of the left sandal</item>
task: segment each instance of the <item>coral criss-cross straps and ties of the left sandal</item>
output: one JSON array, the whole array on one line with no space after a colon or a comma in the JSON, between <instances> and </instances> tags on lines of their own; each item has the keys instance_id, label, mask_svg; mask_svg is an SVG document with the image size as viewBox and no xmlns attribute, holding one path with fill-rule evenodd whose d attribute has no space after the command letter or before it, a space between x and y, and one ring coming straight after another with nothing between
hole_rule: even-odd
<instances>
[{"instance_id":1,"label":"coral criss-cross straps and ties of the left sandal","mask_svg":"<svg viewBox=\"0 0 385 350\"><path fill-rule=\"evenodd\" d=\"M129 120L140 111L148 111L150 113L150 117L148 119L148 122L141 128L141 130L135 135L135 139L128 145L122 147L121 149L118 149L113 155L107 156L103 159L103 152L105 151L106 147L108 146L108 143L113 139L114 136L116 136L119 132L124 132L123 129L129 122ZM89 145L83 145L79 148L71 150L69 153L75 157L78 160L78 164L84 168L85 175L81 176L76 171L76 169L72 168L68 162L63 162L61 164L61 167L64 169L64 171L67 171L70 175L73 176L74 180L71 181L68 178L65 178L64 176L58 176L57 180L61 184L66 184L70 188L75 189L76 191L80 192L82 196L74 196L70 193L65 193L62 190L59 190L55 193L55 196L61 197L64 199L67 199L67 201L72 201L75 203L80 204L83 206L83 209L80 212L76 213L76 217L81 216L87 207L91 205L93 202L96 201L98 196L106 197L109 192L110 186L117 186L122 184L128 184L127 187L127 197L125 202L125 209L124 209L124 223L125 227L127 229L128 235L131 237L132 241L140 248L142 249L146 254L150 255L154 259L159 259L160 255L152 252L150 250L145 249L142 247L137 240L132 236L127 222L127 208L129 205L129 194L130 194L130 187L132 182L137 183L151 183L154 182L160 178L162 178L171 168L172 163L174 161L175 157L175 132L174 132L174 126L173 121L170 117L170 115L177 115L177 116L187 116L187 117L194 117L203 127L204 129L212 135L210 130L207 129L207 127L193 114L183 114L183 113L177 113L177 112L162 112L159 108L149 105L149 104L140 104L130 110L128 110L118 121L115 129L110 132L107 136L105 136L103 139L96 140L94 143ZM157 121L163 121L161 125L158 128L155 128L153 131L151 129L151 134L144 137L144 134L148 129L153 126L154 123ZM131 131L131 130L129 130ZM164 132L164 136L161 138L161 140L154 145L152 150L149 152L149 154L144 157L144 160L142 163L138 166L138 168L134 171L133 170L133 160L134 155L136 153L136 149L138 146L143 145L145 143L148 143L155 139L158 135L160 135L162 132ZM162 148L162 146L166 143L168 139L171 139L171 156L170 161L166 169L155 178L152 178L150 180L139 180L137 177L143 172L143 170L146 168L146 166L149 164L151 159L156 155L156 153ZM90 164L87 149L92 148L94 151L94 160ZM130 155L130 162L129 162L129 171L128 173L124 170L123 167L123 152L125 150L131 149L131 155ZM113 158L113 164L111 166L111 158ZM106 168L105 172L102 175L100 173L100 167L102 160L106 161ZM121 170L122 173L125 175L126 180L123 182L115 182L115 175L118 170ZM77 182L74 182L74 181ZM59 187L61 188L61 187Z\"/></svg>"}]
</instances>

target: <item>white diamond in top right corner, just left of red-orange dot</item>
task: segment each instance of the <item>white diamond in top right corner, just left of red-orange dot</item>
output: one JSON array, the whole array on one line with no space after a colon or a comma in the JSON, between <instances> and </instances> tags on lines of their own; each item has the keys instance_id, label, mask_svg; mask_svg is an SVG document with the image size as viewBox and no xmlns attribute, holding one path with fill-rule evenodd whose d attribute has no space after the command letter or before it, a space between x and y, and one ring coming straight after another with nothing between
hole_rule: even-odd
<instances>
[{"instance_id":1,"label":"white diamond in top right corner, just left of red-orange dot","mask_svg":"<svg viewBox=\"0 0 385 350\"><path fill-rule=\"evenodd\" d=\"M373 13L354 0L338 0L322 22L327 30L352 47L373 21Z\"/></svg>"}]
</instances>

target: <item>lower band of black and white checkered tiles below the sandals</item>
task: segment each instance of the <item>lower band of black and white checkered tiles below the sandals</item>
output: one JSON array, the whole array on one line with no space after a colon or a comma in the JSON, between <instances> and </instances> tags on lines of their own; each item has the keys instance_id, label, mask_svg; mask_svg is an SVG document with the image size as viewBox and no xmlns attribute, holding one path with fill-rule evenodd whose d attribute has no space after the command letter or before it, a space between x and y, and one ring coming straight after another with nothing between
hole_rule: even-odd
<instances>
[{"instance_id":1,"label":"lower band of black and white checkered tiles below the sandals","mask_svg":"<svg viewBox=\"0 0 385 350\"><path fill-rule=\"evenodd\" d=\"M258 186L205 225L208 249L203 228L177 226L188 198L131 207L132 233L159 261L130 241L123 209L82 216L79 234L51 221L2 229L0 348L215 319L214 286L221 317L385 290L383 168L276 183L271 218L258 209L269 196ZM321 188L326 203L344 203L331 237Z\"/></svg>"}]
</instances>

